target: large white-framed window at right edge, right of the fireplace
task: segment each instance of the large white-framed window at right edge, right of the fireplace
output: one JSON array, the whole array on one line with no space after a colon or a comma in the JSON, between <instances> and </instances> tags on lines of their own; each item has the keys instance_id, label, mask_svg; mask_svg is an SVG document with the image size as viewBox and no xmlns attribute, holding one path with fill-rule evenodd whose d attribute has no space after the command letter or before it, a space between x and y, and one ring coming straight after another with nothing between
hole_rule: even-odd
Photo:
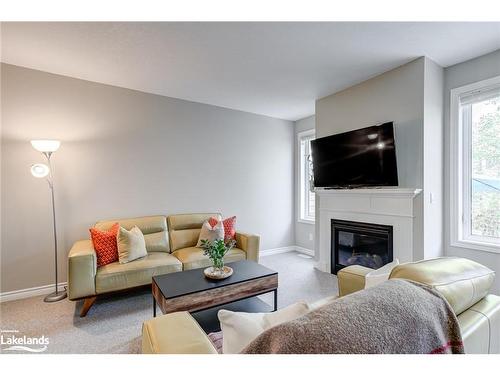
<instances>
[{"instance_id":1,"label":"large white-framed window at right edge, right of the fireplace","mask_svg":"<svg viewBox=\"0 0 500 375\"><path fill-rule=\"evenodd\" d=\"M500 77L452 90L451 242L500 252Z\"/></svg>"}]
</instances>

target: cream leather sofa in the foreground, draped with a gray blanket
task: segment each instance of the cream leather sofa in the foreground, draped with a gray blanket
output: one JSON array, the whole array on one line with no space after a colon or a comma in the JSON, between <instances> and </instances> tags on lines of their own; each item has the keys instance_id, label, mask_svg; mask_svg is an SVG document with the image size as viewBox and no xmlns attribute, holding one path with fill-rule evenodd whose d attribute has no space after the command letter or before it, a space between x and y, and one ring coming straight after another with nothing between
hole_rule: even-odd
<instances>
[{"instance_id":1,"label":"cream leather sofa in the foreground, draped with a gray blanket","mask_svg":"<svg viewBox=\"0 0 500 375\"><path fill-rule=\"evenodd\" d=\"M349 266L338 272L340 298L364 288L371 269ZM391 278L405 278L434 287L450 303L460 324L466 353L500 353L500 297L489 294L494 272L463 258L436 258L407 263ZM311 309L330 303L326 298ZM397 317L395 317L397 319ZM207 334L186 311L147 320L142 326L142 353L216 354Z\"/></svg>"}]
</instances>

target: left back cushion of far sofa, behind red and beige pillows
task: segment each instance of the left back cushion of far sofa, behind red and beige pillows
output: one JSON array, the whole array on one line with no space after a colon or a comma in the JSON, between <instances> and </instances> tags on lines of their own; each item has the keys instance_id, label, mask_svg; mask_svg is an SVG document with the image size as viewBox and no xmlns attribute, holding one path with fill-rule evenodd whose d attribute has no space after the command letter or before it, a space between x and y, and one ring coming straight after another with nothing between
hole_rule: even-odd
<instances>
[{"instance_id":1,"label":"left back cushion of far sofa, behind red and beige pillows","mask_svg":"<svg viewBox=\"0 0 500 375\"><path fill-rule=\"evenodd\" d=\"M133 219L99 221L95 227L99 230L108 230L116 222L126 230L131 230L134 226L137 226L144 234L146 250L148 252L170 251L165 216L144 216Z\"/></svg>"}]
</instances>

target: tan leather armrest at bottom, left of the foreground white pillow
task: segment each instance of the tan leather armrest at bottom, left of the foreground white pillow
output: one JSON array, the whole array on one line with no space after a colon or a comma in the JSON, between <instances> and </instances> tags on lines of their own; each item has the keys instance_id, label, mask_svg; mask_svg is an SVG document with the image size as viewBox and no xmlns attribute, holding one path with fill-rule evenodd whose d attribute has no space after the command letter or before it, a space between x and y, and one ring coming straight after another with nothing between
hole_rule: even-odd
<instances>
[{"instance_id":1,"label":"tan leather armrest at bottom, left of the foreground white pillow","mask_svg":"<svg viewBox=\"0 0 500 375\"><path fill-rule=\"evenodd\" d=\"M142 324L143 354L217 354L198 322L186 311L166 314Z\"/></svg>"}]
</instances>

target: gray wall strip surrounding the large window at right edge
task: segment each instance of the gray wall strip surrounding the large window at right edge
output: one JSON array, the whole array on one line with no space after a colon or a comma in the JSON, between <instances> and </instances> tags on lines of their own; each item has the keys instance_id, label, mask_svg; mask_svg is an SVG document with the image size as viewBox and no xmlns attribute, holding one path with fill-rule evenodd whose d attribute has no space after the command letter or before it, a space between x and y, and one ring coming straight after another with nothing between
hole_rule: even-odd
<instances>
[{"instance_id":1,"label":"gray wall strip surrounding the large window at right edge","mask_svg":"<svg viewBox=\"0 0 500 375\"><path fill-rule=\"evenodd\" d=\"M450 191L450 90L500 75L500 50L450 66L444 71L445 102L445 191ZM445 254L475 260L496 272L493 292L500 294L500 254L450 245L450 201L445 194Z\"/></svg>"}]
</instances>

